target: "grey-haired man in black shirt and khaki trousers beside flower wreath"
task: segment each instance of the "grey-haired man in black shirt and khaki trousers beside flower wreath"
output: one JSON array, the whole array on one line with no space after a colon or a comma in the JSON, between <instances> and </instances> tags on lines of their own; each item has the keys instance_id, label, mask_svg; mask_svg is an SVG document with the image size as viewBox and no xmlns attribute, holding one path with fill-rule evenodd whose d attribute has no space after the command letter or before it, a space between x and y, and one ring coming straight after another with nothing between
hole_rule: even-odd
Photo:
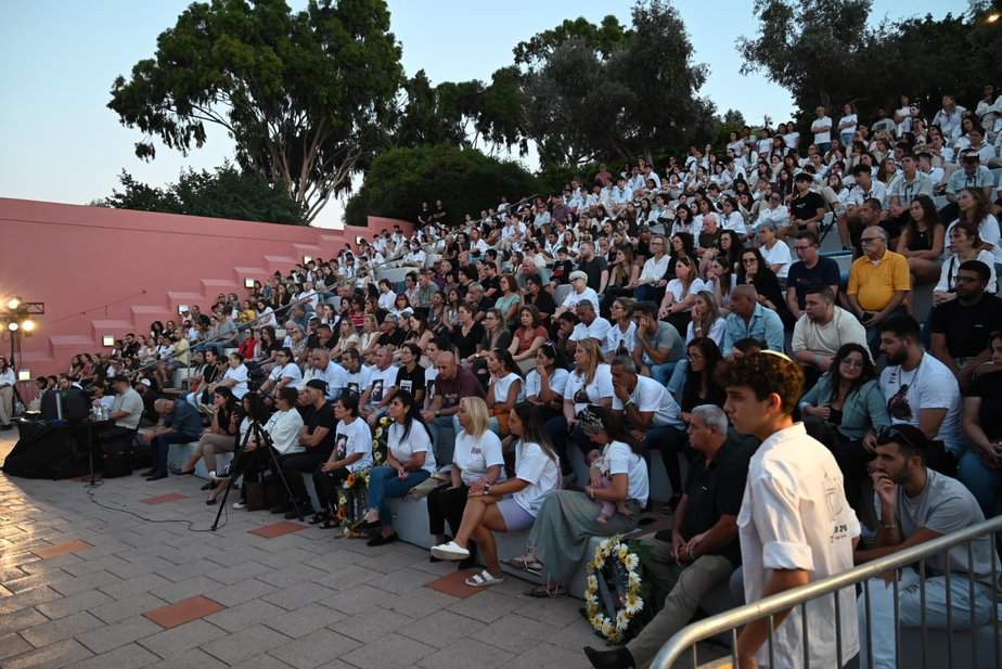
<instances>
[{"instance_id":1,"label":"grey-haired man in black shirt and khaki trousers beside flower wreath","mask_svg":"<svg viewBox=\"0 0 1002 669\"><path fill-rule=\"evenodd\" d=\"M741 564L737 512L753 449L728 438L728 419L714 404L696 407L689 441L698 451L685 480L685 493L670 533L655 535L643 558L644 578L664 606L625 647L584 654L596 669L646 667L672 634L689 625L703 597L728 582Z\"/></svg>"}]
</instances>

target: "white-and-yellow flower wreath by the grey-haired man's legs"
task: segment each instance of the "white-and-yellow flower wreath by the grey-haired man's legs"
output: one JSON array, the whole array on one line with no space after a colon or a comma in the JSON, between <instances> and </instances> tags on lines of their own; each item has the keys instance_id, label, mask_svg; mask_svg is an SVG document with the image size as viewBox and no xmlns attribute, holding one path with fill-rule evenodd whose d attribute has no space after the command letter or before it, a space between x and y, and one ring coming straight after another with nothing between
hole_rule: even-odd
<instances>
[{"instance_id":1,"label":"white-and-yellow flower wreath by the grey-haired man's legs","mask_svg":"<svg viewBox=\"0 0 1002 669\"><path fill-rule=\"evenodd\" d=\"M637 633L634 617L644 607L640 557L621 537L611 537L588 563L584 610L595 633L609 643L624 643Z\"/></svg>"}]
</instances>

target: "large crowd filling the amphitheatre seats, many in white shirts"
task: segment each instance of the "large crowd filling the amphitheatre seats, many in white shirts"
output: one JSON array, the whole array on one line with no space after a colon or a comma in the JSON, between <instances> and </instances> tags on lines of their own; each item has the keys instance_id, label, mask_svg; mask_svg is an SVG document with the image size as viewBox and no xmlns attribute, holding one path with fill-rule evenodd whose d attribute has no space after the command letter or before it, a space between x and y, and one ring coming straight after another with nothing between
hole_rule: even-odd
<instances>
[{"instance_id":1,"label":"large crowd filling the amphitheatre seats, many in white shirts","mask_svg":"<svg viewBox=\"0 0 1002 669\"><path fill-rule=\"evenodd\" d=\"M994 515L999 100L988 87L973 113L949 95L932 113L902 98L869 124L819 107L809 142L793 124L745 129L461 224L425 203L411 233L192 306L39 390L93 388L121 428L108 438L155 422L149 480L168 476L170 445L197 442L178 473L204 459L209 504L231 477L280 469L290 494L271 511L332 528L337 487L364 472L361 520L382 545L397 540L388 500L421 490L431 558L483 557L475 588L504 579L494 535L527 530L510 564L545 577L530 594L558 596L591 537L632 531L667 498L673 529L644 557L659 610L628 645L587 649L595 667L643 667L737 567L754 601ZM820 253L830 231L853 255L847 281ZM920 313L915 291L934 284ZM176 369L190 370L180 394ZM653 451L670 490L651 489ZM989 618L994 548L973 555L927 564L927 622L951 605L954 628ZM874 660L891 667L890 589L868 588ZM849 658L864 612L843 595ZM831 666L835 609L814 604L812 664ZM919 625L917 594L899 605ZM776 628L776 652L802 656L797 625ZM740 657L765 636L748 626Z\"/></svg>"}]
</instances>

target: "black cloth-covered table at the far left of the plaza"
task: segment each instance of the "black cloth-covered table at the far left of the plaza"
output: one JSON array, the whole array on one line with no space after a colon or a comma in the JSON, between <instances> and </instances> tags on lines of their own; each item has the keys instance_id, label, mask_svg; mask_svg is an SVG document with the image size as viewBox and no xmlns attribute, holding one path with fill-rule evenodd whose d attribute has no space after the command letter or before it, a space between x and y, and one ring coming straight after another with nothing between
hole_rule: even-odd
<instances>
[{"instance_id":1,"label":"black cloth-covered table at the far left of the plaza","mask_svg":"<svg viewBox=\"0 0 1002 669\"><path fill-rule=\"evenodd\" d=\"M86 424L50 426L17 423L21 438L3 462L3 472L24 478L72 478L88 472Z\"/></svg>"}]
</instances>

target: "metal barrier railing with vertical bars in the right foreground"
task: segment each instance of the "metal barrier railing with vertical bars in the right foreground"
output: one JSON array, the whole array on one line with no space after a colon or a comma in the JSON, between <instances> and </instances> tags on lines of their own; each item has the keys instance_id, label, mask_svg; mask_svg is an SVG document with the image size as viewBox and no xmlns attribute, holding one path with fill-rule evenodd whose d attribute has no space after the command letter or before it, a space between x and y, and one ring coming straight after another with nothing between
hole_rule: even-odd
<instances>
[{"instance_id":1,"label":"metal barrier railing with vertical bars in the right foreground","mask_svg":"<svg viewBox=\"0 0 1002 669\"><path fill-rule=\"evenodd\" d=\"M804 619L804 639L802 639L802 666L805 669L810 667L810 655L809 655L809 643L808 639L808 623L806 617L806 606L807 603L813 600L818 600L822 596L833 595L835 600L835 645L837 654L837 665L832 665L832 667L843 667L845 662L850 657L842 656L842 615L839 613L839 599L838 592L845 588L852 588L857 583L862 583L868 581L871 578L879 577L882 574L887 571L892 571L902 567L909 567L911 565L919 564L919 578L920 578L920 588L921 588L921 633L922 633L922 664L920 665L922 669L926 669L926 658L928 651L928 628L926 625L926 600L925 600L925 586L926 586L926 568L925 559L948 551L954 546L965 544L967 548L967 565L968 568L973 564L973 546L972 541L985 537L986 535L991 537L991 582L998 583L999 577L999 564L998 564L998 554L995 551L995 532L1002 530L1002 516L997 516L990 520L985 520L977 525L973 525L965 529L959 530L951 535L939 537L932 541L926 541L919 545L892 553L890 555L885 555L872 562L865 563L859 567L844 571L835 576L815 581L813 583L808 583L807 586L801 586L780 594L775 594L769 597L766 597L759 602L753 604L746 604L737 608L724 612L722 614L699 620L694 622L684 629L677 632L668 642L661 646L661 649L658 652L657 656L654 658L654 661L651 664L652 669L671 669L675 666L675 662L682 658L682 656L689 652L692 655L692 666L698 667L698 651L697 644L701 641L710 639L718 634L724 632L730 633L731 638L731 661L733 662L734 669L737 668L737 633L738 628L755 620L761 620L763 618L769 618L768 625L768 640L766 641L769 644L770 655L773 653L772 638L775 632L775 626L773 625L773 616L781 612L786 612L793 609L794 607L800 608L800 614ZM952 669L953 667L953 606L951 602L951 569L950 561L947 561L947 569L943 574L946 579L946 607L947 607L947 656L948 656L948 667ZM954 577L955 578L955 577ZM967 578L966 575L963 575L963 578ZM999 646L999 614L997 610L995 599L991 599L991 621L993 632L993 655L992 664L989 665L988 659L986 658L985 664L978 664L978 644L977 644L977 634L974 633L978 626L976 625L976 610L977 606L975 605L975 579L967 579L969 583L969 596L971 596L971 627L967 628L972 631L971 634L971 644L972 644L972 667L980 669L981 667L991 666L995 669L1002 667L1002 657L1000 657L1000 646ZM868 652L868 662L863 665L860 662L860 667L873 667L873 630L872 630L872 617L870 616L870 588L864 587L862 589L864 593L864 605L866 610L866 621L865 621L865 635L866 635L866 652ZM992 593L994 593L994 588L992 588ZM900 610L899 610L899 587L898 579L894 579L894 613L895 613L895 626L894 626L894 639L895 639L895 649L896 649L896 661L897 666L900 668L902 666L901 660L901 625L900 625ZM989 625L986 622L985 625ZM940 628L936 628L940 629ZM799 666L799 658L791 658L795 666ZM775 666L774 662L770 661L771 666ZM782 662L781 662L782 665ZM785 665L782 665L785 666ZM827 669L825 667L824 669ZM928 669L939 669L939 667Z\"/></svg>"}]
</instances>

